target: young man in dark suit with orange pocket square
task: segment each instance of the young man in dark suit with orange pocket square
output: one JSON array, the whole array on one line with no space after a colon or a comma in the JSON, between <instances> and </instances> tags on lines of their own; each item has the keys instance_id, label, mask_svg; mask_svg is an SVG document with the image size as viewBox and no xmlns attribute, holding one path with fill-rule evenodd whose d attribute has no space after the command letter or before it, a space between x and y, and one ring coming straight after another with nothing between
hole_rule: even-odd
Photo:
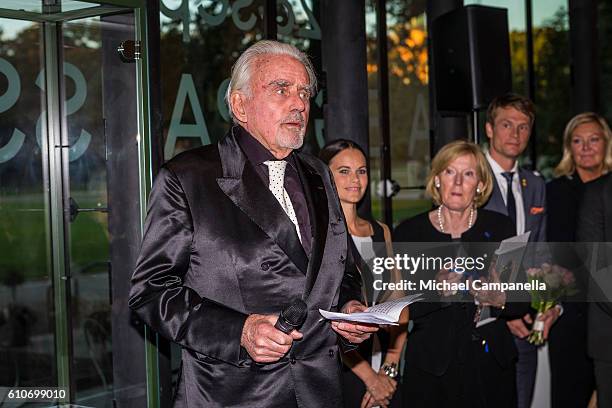
<instances>
[{"instance_id":1,"label":"young man in dark suit with orange pocket square","mask_svg":"<svg viewBox=\"0 0 612 408\"><path fill-rule=\"evenodd\" d=\"M485 208L509 216L516 225L516 233L530 231L531 242L546 241L546 186L536 172L518 166L531 135L535 119L533 103L520 95L501 95L491 101L487 110L486 133L489 138L487 161L493 172L493 193ZM529 257L539 258L538 251ZM531 265L540 266L540 265ZM561 309L555 307L544 314L545 336L558 318ZM517 391L519 408L529 408L537 369L537 349L527 342L529 314L522 319L508 321L515 335L519 352L517 363Z\"/></svg>"}]
</instances>

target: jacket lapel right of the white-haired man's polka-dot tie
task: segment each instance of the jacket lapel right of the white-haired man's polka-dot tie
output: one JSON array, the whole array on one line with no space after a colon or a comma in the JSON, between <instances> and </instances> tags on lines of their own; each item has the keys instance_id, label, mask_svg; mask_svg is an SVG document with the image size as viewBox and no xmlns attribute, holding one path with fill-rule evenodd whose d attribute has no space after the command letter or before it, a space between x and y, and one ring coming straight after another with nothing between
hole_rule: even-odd
<instances>
[{"instance_id":1,"label":"jacket lapel right of the white-haired man's polka-dot tie","mask_svg":"<svg viewBox=\"0 0 612 408\"><path fill-rule=\"evenodd\" d=\"M323 251L327 239L327 225L329 223L329 210L321 176L304 160L302 155L297 154L296 158L297 170L302 186L304 186L304 195L312 228L312 253L310 254L310 262L306 272L306 287L303 296L306 299L317 280L321 260L323 259Z\"/></svg>"}]
</instances>

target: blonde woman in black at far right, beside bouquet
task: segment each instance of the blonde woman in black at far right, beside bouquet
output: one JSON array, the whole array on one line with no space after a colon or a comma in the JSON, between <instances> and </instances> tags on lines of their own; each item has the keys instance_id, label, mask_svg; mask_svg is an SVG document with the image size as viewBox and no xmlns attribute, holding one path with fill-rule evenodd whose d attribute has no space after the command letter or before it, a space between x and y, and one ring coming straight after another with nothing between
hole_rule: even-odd
<instances>
[{"instance_id":1,"label":"blonde woman in black at far right, beside bouquet","mask_svg":"<svg viewBox=\"0 0 612 408\"><path fill-rule=\"evenodd\" d=\"M546 185L546 236L553 243L555 263L573 271L580 292L565 299L563 316L548 339L551 366L551 396L554 407L584 407L594 389L593 363L587 355L587 282L582 279L581 261L573 245L583 185L612 168L612 133L606 120L596 113L574 116L563 134L563 158L555 168L556 179ZM557 243L557 244L555 244Z\"/></svg>"}]
</instances>

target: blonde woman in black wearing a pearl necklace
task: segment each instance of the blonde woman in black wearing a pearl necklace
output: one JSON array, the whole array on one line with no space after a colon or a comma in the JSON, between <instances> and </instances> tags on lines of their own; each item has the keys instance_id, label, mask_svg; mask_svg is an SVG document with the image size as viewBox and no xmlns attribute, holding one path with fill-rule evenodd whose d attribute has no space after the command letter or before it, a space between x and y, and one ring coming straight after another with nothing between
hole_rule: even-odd
<instances>
[{"instance_id":1,"label":"blonde woman in black wearing a pearl necklace","mask_svg":"<svg viewBox=\"0 0 612 408\"><path fill-rule=\"evenodd\" d=\"M401 223L395 242L456 242L465 251L471 247L466 243L495 243L513 236L516 228L508 217L480 208L493 189L492 177L477 145L456 141L444 146L432 160L426 187L436 208ZM447 254L436 249L431 255ZM430 273L439 280L462 279L452 271ZM406 344L403 395L411 407L516 405L517 353L505 319L522 316L527 305L505 305L503 294L490 295L465 293L462 302L441 296L410 306L414 325ZM498 319L476 328L474 297L481 305L489 304Z\"/></svg>"}]
</instances>

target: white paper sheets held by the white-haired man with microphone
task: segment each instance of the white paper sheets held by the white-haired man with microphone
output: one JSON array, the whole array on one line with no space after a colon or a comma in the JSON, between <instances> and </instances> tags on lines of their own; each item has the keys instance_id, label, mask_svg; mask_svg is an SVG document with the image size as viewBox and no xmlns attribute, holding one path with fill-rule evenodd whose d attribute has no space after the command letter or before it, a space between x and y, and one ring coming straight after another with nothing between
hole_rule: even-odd
<instances>
[{"instance_id":1,"label":"white paper sheets held by the white-haired man with microphone","mask_svg":"<svg viewBox=\"0 0 612 408\"><path fill-rule=\"evenodd\" d=\"M347 314L328 312L326 310L319 309L319 313L321 313L321 316L327 320L347 320L359 323L396 325L399 321L402 309L418 300L421 300L420 293L404 296L389 302L379 303L375 306L367 308L364 312Z\"/></svg>"}]
</instances>

